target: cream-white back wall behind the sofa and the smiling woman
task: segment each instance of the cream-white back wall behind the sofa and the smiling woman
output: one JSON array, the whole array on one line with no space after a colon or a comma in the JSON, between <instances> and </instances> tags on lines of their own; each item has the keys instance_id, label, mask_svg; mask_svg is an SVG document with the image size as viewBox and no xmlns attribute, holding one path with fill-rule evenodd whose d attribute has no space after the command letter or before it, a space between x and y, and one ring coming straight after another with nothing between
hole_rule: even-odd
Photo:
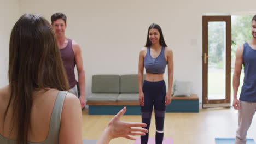
<instances>
[{"instance_id":1,"label":"cream-white back wall behind the sofa and the smiling woman","mask_svg":"<svg viewBox=\"0 0 256 144\"><path fill-rule=\"evenodd\" d=\"M67 15L66 35L82 47L86 95L94 74L137 74L147 29L158 23L174 52L175 79L192 81L201 101L202 15L251 12L254 5L255 0L20 0L19 8L20 15L38 13L48 20L59 11Z\"/></svg>"}]
</instances>

